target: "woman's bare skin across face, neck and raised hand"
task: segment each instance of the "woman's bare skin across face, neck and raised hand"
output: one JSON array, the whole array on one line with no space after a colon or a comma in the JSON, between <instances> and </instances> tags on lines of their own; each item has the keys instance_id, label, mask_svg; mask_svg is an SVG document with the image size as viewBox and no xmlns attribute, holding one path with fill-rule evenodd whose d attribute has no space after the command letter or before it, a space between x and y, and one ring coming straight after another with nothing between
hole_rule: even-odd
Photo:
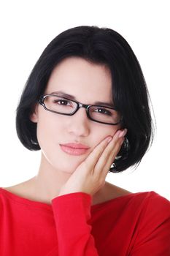
<instances>
[{"instance_id":1,"label":"woman's bare skin across face, neck and raised hand","mask_svg":"<svg viewBox=\"0 0 170 256\"><path fill-rule=\"evenodd\" d=\"M74 95L84 104L112 102L111 74L104 65L69 57L53 69L45 94L59 90ZM37 123L42 153L39 172L22 185L27 197L31 199L34 195L34 200L44 203L72 192L86 192L93 201L101 197L109 167L120 151L126 129L122 132L120 125L91 121L85 108L73 116L64 116L37 104L30 119ZM112 137L109 143L108 136ZM59 144L62 143L82 143L90 148L85 154L72 156L61 150Z\"/></svg>"}]
</instances>

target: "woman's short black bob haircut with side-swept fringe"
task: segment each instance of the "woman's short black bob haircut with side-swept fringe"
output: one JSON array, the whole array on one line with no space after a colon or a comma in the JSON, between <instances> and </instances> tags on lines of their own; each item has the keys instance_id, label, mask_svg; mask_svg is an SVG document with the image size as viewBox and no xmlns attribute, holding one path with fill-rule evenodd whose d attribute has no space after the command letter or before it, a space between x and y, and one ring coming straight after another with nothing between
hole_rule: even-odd
<instances>
[{"instance_id":1,"label":"woman's short black bob haircut with side-swept fringe","mask_svg":"<svg viewBox=\"0 0 170 256\"><path fill-rule=\"evenodd\" d=\"M34 106L44 94L55 66L69 56L107 65L112 75L112 99L128 132L109 172L136 167L152 144L150 96L139 61L128 42L116 31L98 26L77 26L58 34L42 52L20 97L16 110L18 138L29 150L39 150L36 123L30 120Z\"/></svg>"}]
</instances>

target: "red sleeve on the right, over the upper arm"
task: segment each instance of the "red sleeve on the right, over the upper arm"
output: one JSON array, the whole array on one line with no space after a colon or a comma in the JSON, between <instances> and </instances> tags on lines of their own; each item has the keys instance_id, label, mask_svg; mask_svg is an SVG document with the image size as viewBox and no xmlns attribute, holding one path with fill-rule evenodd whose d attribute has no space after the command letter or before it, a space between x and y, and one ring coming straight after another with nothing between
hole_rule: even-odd
<instances>
[{"instance_id":1,"label":"red sleeve on the right, over the upper arm","mask_svg":"<svg viewBox=\"0 0 170 256\"><path fill-rule=\"evenodd\" d=\"M170 256L170 202L160 195L147 200L131 256Z\"/></svg>"}]
</instances>

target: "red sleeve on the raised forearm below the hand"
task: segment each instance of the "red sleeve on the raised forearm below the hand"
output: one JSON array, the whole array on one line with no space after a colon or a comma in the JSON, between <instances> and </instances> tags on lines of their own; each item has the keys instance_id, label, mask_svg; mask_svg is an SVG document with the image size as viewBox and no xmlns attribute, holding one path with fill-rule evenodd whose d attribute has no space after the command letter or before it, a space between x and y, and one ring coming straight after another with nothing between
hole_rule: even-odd
<instances>
[{"instance_id":1,"label":"red sleeve on the raised forearm below the hand","mask_svg":"<svg viewBox=\"0 0 170 256\"><path fill-rule=\"evenodd\" d=\"M52 200L58 235L58 255L98 256L90 234L91 196L84 192L61 195Z\"/></svg>"}]
</instances>

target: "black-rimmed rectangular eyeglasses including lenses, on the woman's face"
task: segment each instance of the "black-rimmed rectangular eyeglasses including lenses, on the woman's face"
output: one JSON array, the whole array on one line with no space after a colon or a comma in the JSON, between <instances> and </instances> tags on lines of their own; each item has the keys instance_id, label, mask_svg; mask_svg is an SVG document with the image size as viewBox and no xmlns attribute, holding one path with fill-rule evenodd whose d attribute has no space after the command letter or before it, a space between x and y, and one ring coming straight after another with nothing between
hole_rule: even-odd
<instances>
[{"instance_id":1,"label":"black-rimmed rectangular eyeglasses including lenses, on the woman's face","mask_svg":"<svg viewBox=\"0 0 170 256\"><path fill-rule=\"evenodd\" d=\"M101 124L116 125L122 121L122 116L115 108L86 105L55 94L41 96L39 104L47 111L66 116L72 116L80 108L85 108L88 118Z\"/></svg>"}]
</instances>

